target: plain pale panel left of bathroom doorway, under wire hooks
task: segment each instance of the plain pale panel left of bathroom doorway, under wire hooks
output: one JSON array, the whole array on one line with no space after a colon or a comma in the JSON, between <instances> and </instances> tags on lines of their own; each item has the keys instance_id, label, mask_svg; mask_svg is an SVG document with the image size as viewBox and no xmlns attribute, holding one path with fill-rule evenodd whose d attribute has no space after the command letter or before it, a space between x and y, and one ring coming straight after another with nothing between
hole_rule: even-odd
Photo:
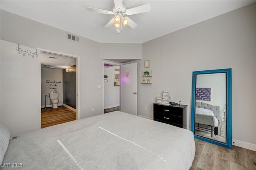
<instances>
[{"instance_id":1,"label":"plain pale panel left of bathroom doorway, under wire hooks","mask_svg":"<svg viewBox=\"0 0 256 170\"><path fill-rule=\"evenodd\" d=\"M1 40L0 118L12 136L41 128L40 56L23 56L17 47ZM35 52L34 48L20 48Z\"/></svg>"}]
</instances>

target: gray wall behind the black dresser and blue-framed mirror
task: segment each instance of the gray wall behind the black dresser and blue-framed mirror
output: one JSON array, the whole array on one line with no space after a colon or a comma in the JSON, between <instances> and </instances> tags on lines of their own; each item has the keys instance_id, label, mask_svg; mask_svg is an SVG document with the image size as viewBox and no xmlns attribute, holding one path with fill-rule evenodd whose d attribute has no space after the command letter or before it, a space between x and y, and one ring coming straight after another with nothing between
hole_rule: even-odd
<instances>
[{"instance_id":1,"label":"gray wall behind the black dresser and blue-framed mirror","mask_svg":"<svg viewBox=\"0 0 256 170\"><path fill-rule=\"evenodd\" d=\"M188 105L190 113L192 72L232 68L233 141L240 146L248 142L255 149L255 16L256 3L144 43L138 82L149 59L153 84L138 84L138 114L152 118L152 103L163 90L173 101Z\"/></svg>"}]
</instances>

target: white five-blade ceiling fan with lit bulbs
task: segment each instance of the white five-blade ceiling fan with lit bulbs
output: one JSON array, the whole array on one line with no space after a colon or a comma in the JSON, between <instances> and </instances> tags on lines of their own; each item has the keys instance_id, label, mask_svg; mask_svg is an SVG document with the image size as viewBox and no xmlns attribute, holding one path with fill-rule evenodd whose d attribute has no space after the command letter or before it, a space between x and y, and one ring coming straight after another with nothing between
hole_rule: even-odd
<instances>
[{"instance_id":1,"label":"white five-blade ceiling fan with lit bulbs","mask_svg":"<svg viewBox=\"0 0 256 170\"><path fill-rule=\"evenodd\" d=\"M135 28L137 24L131 20L128 16L125 15L134 15L134 14L140 14L144 12L149 12L151 10L150 4L137 6L134 8L126 9L126 7L123 5L122 0L114 0L114 6L112 8L112 11L108 10L102 10L92 7L87 7L87 10L90 12L98 12L102 14L109 14L109 15L115 15L114 18L112 18L108 24L105 25L105 28L109 28L111 26L116 27L116 33L119 34L122 30L123 26L130 26L131 28Z\"/></svg>"}]
</instances>

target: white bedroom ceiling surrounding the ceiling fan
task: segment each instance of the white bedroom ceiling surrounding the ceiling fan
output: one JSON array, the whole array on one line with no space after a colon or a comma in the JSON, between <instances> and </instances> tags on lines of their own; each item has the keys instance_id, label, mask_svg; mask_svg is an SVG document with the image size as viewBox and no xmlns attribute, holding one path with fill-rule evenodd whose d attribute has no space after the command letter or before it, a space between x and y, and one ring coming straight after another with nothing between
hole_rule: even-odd
<instances>
[{"instance_id":1,"label":"white bedroom ceiling surrounding the ceiling fan","mask_svg":"<svg viewBox=\"0 0 256 170\"><path fill-rule=\"evenodd\" d=\"M8 12L59 28L101 43L144 43L215 16L256 2L248 0L124 0L127 9L150 4L151 11L130 15L138 24L115 33L114 26L104 28L113 15L88 12L87 7L112 11L113 0L1 0Z\"/></svg>"}]
</instances>

